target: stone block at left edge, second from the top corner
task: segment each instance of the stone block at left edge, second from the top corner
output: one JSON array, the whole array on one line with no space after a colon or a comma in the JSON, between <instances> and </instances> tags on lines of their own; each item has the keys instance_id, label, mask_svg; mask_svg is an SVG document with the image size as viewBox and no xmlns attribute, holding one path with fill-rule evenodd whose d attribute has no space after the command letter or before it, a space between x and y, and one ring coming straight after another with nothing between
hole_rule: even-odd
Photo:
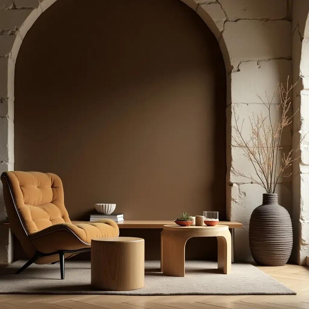
<instances>
[{"instance_id":1,"label":"stone block at left edge, second from the top corner","mask_svg":"<svg viewBox=\"0 0 309 309\"><path fill-rule=\"evenodd\" d=\"M15 30L20 28L32 10L2 10L0 11L0 29Z\"/></svg>"}]
</instances>

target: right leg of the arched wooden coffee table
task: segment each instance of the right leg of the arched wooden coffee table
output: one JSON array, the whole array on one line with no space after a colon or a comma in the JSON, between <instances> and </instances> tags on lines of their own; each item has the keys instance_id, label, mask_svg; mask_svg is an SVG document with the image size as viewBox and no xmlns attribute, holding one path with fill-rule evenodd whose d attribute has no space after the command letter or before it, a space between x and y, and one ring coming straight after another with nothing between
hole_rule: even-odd
<instances>
[{"instance_id":1,"label":"right leg of the arched wooden coffee table","mask_svg":"<svg viewBox=\"0 0 309 309\"><path fill-rule=\"evenodd\" d=\"M224 274L231 273L231 233L230 231L221 231L218 239L218 269Z\"/></svg>"}]
</instances>

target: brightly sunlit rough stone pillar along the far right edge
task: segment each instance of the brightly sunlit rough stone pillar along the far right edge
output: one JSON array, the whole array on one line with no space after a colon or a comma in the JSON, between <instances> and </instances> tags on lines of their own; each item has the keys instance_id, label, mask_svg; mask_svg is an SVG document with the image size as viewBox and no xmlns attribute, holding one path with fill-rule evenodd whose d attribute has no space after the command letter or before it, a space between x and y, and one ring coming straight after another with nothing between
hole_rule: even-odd
<instances>
[{"instance_id":1,"label":"brightly sunlit rough stone pillar along the far right edge","mask_svg":"<svg viewBox=\"0 0 309 309\"><path fill-rule=\"evenodd\" d=\"M300 142L299 160L293 165L294 260L306 264L309 256L309 2L293 2L293 145Z\"/></svg>"}]
</instances>

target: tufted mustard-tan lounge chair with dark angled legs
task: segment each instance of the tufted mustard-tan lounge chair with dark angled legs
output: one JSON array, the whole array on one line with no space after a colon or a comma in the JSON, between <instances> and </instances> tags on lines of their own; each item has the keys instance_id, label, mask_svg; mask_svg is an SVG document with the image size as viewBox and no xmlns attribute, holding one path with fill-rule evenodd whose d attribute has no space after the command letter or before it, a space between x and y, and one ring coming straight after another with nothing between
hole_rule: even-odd
<instances>
[{"instance_id":1,"label":"tufted mustard-tan lounge chair with dark angled legs","mask_svg":"<svg viewBox=\"0 0 309 309\"><path fill-rule=\"evenodd\" d=\"M51 173L9 171L1 175L6 212L10 226L32 263L60 261L64 278L64 259L90 251L91 239L117 237L117 224L109 219L72 224L64 206L61 179Z\"/></svg>"}]
</instances>

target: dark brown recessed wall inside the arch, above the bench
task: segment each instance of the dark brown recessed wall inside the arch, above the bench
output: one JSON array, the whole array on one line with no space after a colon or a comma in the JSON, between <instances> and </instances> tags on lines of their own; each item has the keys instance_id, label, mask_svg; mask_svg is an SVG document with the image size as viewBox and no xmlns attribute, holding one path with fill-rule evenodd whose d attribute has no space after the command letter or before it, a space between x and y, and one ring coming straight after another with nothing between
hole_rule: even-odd
<instances>
[{"instance_id":1,"label":"dark brown recessed wall inside the arch, above the bench","mask_svg":"<svg viewBox=\"0 0 309 309\"><path fill-rule=\"evenodd\" d=\"M225 218L226 76L179 0L57 1L15 66L15 169L53 172L71 219Z\"/></svg>"}]
</instances>

